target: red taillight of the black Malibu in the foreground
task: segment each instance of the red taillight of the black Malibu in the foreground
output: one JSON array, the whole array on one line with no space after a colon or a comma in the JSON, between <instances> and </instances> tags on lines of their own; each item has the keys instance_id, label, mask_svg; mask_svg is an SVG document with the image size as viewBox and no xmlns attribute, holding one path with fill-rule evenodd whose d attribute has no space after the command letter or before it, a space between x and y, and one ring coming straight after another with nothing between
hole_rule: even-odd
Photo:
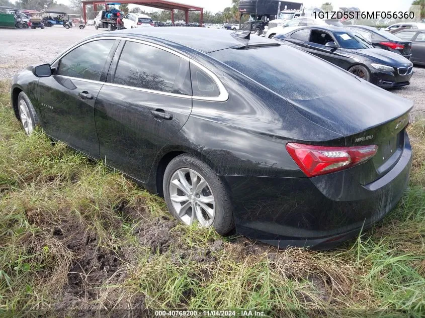
<instances>
[{"instance_id":1,"label":"red taillight of the black Malibu in the foreground","mask_svg":"<svg viewBox=\"0 0 425 318\"><path fill-rule=\"evenodd\" d=\"M378 146L324 147L288 143L286 150L307 177L314 177L365 162L376 154Z\"/></svg>"}]
</instances>

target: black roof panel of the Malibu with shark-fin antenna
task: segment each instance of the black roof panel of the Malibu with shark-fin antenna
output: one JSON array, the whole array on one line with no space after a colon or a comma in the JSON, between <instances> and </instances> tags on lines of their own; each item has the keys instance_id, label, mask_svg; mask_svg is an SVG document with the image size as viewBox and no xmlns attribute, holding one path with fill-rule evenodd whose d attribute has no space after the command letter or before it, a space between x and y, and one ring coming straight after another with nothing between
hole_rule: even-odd
<instances>
[{"instance_id":1,"label":"black roof panel of the Malibu with shark-fin antenna","mask_svg":"<svg viewBox=\"0 0 425 318\"><path fill-rule=\"evenodd\" d=\"M235 31L236 33L238 31ZM108 37L112 35L139 37L140 39L151 39L168 44L177 44L192 48L204 53L224 50L240 45L252 44L275 44L276 41L264 37L251 35L250 39L232 36L234 32L224 29L210 28L135 28L130 30L106 32L95 37Z\"/></svg>"}]
</instances>

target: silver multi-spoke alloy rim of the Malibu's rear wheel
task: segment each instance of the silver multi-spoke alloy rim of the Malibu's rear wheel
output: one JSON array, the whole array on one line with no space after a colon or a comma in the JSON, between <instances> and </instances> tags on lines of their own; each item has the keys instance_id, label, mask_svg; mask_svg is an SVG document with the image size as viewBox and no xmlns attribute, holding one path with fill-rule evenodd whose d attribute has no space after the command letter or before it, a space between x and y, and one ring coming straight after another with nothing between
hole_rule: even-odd
<instances>
[{"instance_id":1,"label":"silver multi-spoke alloy rim of the Malibu's rear wheel","mask_svg":"<svg viewBox=\"0 0 425 318\"><path fill-rule=\"evenodd\" d=\"M207 181L195 170L178 169L169 184L169 194L176 214L186 224L194 221L202 227L214 222L215 199Z\"/></svg>"}]
</instances>

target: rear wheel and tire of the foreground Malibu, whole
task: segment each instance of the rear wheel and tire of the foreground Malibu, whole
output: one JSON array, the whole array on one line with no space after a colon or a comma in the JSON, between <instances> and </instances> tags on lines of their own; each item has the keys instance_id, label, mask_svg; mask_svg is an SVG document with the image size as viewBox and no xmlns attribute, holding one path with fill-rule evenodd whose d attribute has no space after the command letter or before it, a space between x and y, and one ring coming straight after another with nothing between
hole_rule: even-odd
<instances>
[{"instance_id":1,"label":"rear wheel and tire of the foreground Malibu, whole","mask_svg":"<svg viewBox=\"0 0 425 318\"><path fill-rule=\"evenodd\" d=\"M233 213L227 190L215 171L189 154L174 158L166 167L163 193L170 213L191 225L214 227L217 233L233 229Z\"/></svg>"}]
</instances>

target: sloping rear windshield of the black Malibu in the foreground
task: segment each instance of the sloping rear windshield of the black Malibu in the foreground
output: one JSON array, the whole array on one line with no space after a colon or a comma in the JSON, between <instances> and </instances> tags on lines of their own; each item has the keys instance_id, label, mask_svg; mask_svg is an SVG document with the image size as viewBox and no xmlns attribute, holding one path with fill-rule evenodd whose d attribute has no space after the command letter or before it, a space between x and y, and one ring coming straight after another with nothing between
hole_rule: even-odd
<instances>
[{"instance_id":1,"label":"sloping rear windshield of the black Malibu in the foreground","mask_svg":"<svg viewBox=\"0 0 425 318\"><path fill-rule=\"evenodd\" d=\"M288 45L210 55L289 99L314 99L359 82L337 66Z\"/></svg>"}]
</instances>

